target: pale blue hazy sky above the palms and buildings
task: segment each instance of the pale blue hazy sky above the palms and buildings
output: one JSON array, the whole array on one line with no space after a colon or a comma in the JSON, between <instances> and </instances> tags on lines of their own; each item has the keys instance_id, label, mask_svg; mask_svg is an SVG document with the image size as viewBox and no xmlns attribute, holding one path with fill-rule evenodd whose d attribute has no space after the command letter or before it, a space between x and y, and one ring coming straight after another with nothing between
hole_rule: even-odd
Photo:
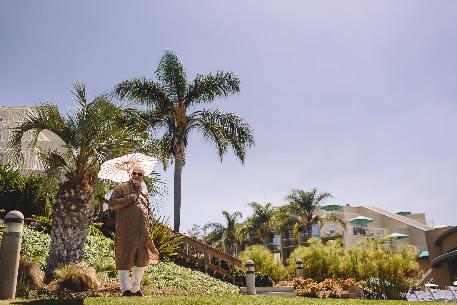
<instances>
[{"instance_id":1,"label":"pale blue hazy sky above the palms and buildings","mask_svg":"<svg viewBox=\"0 0 457 305\"><path fill-rule=\"evenodd\" d=\"M234 71L256 147L241 166L191 134L181 229L293 187L329 202L423 212L456 225L455 1L7 1L0 11L0 105L58 103L154 77L166 48L189 79ZM173 172L165 173L170 190ZM164 215L172 215L172 198ZM172 221L171 221L172 222Z\"/></svg>"}]
</instances>

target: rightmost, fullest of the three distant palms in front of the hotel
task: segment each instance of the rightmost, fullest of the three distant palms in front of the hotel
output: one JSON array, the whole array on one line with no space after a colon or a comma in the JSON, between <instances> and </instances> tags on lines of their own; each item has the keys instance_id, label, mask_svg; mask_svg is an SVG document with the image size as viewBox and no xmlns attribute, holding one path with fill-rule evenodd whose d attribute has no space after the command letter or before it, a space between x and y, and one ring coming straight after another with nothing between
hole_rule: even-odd
<instances>
[{"instance_id":1,"label":"rightmost, fullest of the three distant palms in front of the hotel","mask_svg":"<svg viewBox=\"0 0 457 305\"><path fill-rule=\"evenodd\" d=\"M318 214L324 200L331 197L332 195L327 192L317 193L316 188L311 191L292 189L290 194L284 197L284 200L289 203L277 209L277 226L284 227L286 224L293 223L295 236L298 236L302 231L306 231L308 237L312 235L312 226L314 224L319 224L322 227L326 222L335 222L346 228L346 221L343 217L335 213Z\"/></svg>"}]
</instances>

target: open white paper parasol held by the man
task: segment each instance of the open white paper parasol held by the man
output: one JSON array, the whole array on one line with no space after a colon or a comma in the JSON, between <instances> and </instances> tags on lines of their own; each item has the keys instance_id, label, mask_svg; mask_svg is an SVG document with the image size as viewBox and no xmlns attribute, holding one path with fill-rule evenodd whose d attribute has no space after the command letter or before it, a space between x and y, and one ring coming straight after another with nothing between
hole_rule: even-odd
<instances>
[{"instance_id":1,"label":"open white paper parasol held by the man","mask_svg":"<svg viewBox=\"0 0 457 305\"><path fill-rule=\"evenodd\" d=\"M130 172L137 166L144 169L147 176L154 171L158 160L142 153L129 153L128 155L103 162L98 172L98 178L109 179L114 182L126 182L130 179Z\"/></svg>"}]
</instances>

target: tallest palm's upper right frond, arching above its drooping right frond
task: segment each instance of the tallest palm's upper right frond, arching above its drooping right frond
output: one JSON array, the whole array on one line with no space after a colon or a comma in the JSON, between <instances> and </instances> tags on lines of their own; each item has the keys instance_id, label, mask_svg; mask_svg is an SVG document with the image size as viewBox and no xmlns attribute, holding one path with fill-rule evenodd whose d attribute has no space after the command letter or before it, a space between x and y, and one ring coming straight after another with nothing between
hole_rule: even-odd
<instances>
[{"instance_id":1,"label":"tallest palm's upper right frond, arching above its drooping right frond","mask_svg":"<svg viewBox=\"0 0 457 305\"><path fill-rule=\"evenodd\" d=\"M239 79L233 72L198 74L188 85L184 107L213 102L235 93L239 93Z\"/></svg>"}]
</instances>

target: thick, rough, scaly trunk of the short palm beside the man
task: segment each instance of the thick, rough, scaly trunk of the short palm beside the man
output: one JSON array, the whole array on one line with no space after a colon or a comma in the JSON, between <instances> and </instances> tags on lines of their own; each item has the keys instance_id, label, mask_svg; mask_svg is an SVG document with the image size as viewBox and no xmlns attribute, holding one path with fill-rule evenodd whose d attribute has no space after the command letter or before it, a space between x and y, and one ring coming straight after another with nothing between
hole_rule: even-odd
<instances>
[{"instance_id":1,"label":"thick, rough, scaly trunk of the short palm beside the man","mask_svg":"<svg viewBox=\"0 0 457 305\"><path fill-rule=\"evenodd\" d=\"M78 182L64 182L56 195L51 219L51 244L46 272L58 265L79 263L94 216L92 186Z\"/></svg>"}]
</instances>

